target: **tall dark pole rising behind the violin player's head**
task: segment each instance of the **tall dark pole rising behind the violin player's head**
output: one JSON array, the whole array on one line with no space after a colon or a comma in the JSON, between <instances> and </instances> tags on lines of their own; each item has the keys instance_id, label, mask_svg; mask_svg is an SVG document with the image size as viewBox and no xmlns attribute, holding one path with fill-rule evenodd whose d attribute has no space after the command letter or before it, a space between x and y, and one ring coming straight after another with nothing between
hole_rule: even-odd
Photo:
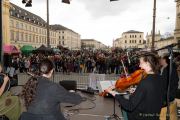
<instances>
[{"instance_id":1,"label":"tall dark pole rising behind the violin player's head","mask_svg":"<svg viewBox=\"0 0 180 120\"><path fill-rule=\"evenodd\" d=\"M152 26L152 46L151 50L154 50L154 41L155 41L155 26L156 25L156 0L154 0L154 7L153 7L153 26Z\"/></svg>"}]
</instances>

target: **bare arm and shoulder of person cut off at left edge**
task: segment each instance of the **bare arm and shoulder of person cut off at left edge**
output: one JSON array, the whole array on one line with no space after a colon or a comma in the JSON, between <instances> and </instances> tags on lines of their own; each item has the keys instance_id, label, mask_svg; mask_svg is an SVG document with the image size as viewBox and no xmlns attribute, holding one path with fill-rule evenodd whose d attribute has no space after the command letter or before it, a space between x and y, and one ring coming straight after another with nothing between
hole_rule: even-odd
<instances>
[{"instance_id":1,"label":"bare arm and shoulder of person cut off at left edge","mask_svg":"<svg viewBox=\"0 0 180 120\"><path fill-rule=\"evenodd\" d=\"M0 96L5 92L6 85L8 84L9 77L2 73L2 65L0 64Z\"/></svg>"}]
</instances>

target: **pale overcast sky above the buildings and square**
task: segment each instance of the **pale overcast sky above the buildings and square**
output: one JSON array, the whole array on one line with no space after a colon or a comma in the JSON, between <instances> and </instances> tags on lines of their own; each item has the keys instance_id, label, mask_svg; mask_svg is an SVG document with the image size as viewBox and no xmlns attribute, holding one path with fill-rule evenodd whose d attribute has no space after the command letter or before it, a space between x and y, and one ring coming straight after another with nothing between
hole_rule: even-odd
<instances>
[{"instance_id":1,"label":"pale overcast sky above the buildings and square","mask_svg":"<svg viewBox=\"0 0 180 120\"><path fill-rule=\"evenodd\" d=\"M176 3L174 0L156 0L156 30L161 34L175 29ZM10 2L26 9L46 21L46 0L32 0L32 7L25 7L22 0ZM95 39L112 46L113 39L123 32L152 30L153 0L49 0L50 24L61 24L81 35L81 39Z\"/></svg>"}]
</instances>

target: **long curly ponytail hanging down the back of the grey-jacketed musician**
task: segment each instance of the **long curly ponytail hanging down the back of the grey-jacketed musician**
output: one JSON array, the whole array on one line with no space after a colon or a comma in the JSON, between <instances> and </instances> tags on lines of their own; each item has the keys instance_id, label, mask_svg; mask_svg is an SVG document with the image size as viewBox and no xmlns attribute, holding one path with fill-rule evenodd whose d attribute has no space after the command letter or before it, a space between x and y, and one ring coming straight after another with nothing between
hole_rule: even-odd
<instances>
[{"instance_id":1,"label":"long curly ponytail hanging down the back of the grey-jacketed musician","mask_svg":"<svg viewBox=\"0 0 180 120\"><path fill-rule=\"evenodd\" d=\"M24 98L25 106L31 104L36 96L36 89L38 85L38 80L36 77L30 77L27 83L24 85L21 96Z\"/></svg>"}]
</instances>

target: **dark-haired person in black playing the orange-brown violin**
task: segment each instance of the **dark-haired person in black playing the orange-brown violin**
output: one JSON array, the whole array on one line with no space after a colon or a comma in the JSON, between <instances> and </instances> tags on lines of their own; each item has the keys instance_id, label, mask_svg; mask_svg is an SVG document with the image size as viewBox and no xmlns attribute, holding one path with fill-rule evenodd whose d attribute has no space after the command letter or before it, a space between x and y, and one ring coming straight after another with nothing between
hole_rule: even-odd
<instances>
[{"instance_id":1,"label":"dark-haired person in black playing the orange-brown violin","mask_svg":"<svg viewBox=\"0 0 180 120\"><path fill-rule=\"evenodd\" d=\"M162 106L162 78L158 75L158 59L154 54L140 56L139 67L147 76L143 78L129 99L113 91L115 86L106 89L127 112L128 120L159 120Z\"/></svg>"}]
</instances>

